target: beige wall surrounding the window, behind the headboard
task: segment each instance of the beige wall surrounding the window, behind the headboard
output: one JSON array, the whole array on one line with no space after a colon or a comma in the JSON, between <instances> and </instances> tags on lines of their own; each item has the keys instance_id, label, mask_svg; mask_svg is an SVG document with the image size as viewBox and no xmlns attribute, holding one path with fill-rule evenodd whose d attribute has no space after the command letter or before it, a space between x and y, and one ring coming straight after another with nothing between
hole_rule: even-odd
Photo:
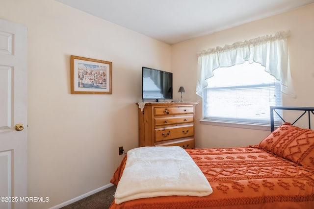
<instances>
[{"instance_id":1,"label":"beige wall surrounding the window, behind the headboard","mask_svg":"<svg viewBox=\"0 0 314 209\"><path fill-rule=\"evenodd\" d=\"M195 94L197 52L231 45L277 31L291 31L288 38L290 69L297 97L284 96L284 106L314 106L314 4L260 21L236 26L211 35L191 39L171 47L175 83L183 85L187 101L198 101L196 147L228 147L257 144L269 131L227 128L201 124L202 100ZM175 89L175 88L174 88Z\"/></svg>"}]
</instances>

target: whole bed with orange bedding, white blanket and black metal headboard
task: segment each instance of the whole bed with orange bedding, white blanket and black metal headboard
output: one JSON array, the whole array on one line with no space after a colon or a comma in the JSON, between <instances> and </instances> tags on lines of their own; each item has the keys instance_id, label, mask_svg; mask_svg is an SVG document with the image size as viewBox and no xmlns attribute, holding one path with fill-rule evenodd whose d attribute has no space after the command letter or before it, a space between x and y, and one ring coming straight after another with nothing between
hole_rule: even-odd
<instances>
[{"instance_id":1,"label":"whole bed with orange bedding, white blanket and black metal headboard","mask_svg":"<svg viewBox=\"0 0 314 209\"><path fill-rule=\"evenodd\" d=\"M128 151L128 155L124 157L111 179L111 183L117 186L117 191L110 209L313 209L314 131L310 129L310 114L314 114L314 108L270 107L272 118L274 113L278 114L278 110L302 111L301 116L308 115L309 117L309 128L294 125L301 116L292 123L286 122L281 117L284 123L275 128L272 119L271 130L274 131L265 139L261 139L258 145L185 150L175 148L178 149L178 154L173 154L169 159L183 156L182 162L178 162L183 163L179 166L178 176L185 176L191 170L200 170L208 185L204 182L202 185L202 181L196 181L203 178L197 176L198 173L192 174L192 177L180 179L177 185L180 189L167 188L165 186L177 181L172 178L169 180L169 176L173 174L168 174L168 171L177 167L172 164L172 161L151 160L152 156L163 155L162 152L161 155L156 155L155 150L149 150L144 158L142 158L144 155L142 148L133 149L130 154ZM158 147L147 149L155 148L158 149ZM172 150L173 147L169 149L171 153L176 153L176 150ZM180 149L188 157L180 153ZM148 155L147 158L146 155ZM131 161L132 156L135 156L135 163L140 161L140 163L144 162L144 165L136 164L136 167ZM190 158L192 162L187 158ZM155 160L159 164L157 163L157 167L152 168L154 172L151 172L149 166L154 164ZM160 162L172 163L163 165ZM193 163L197 166L195 167ZM130 167L134 166L135 171L130 171ZM187 170L184 170L185 167ZM155 172L157 176L153 175ZM166 173L167 175L164 176L170 183L162 182L164 180L160 180L158 172ZM141 179L140 176L145 178ZM151 183L147 183L150 182L148 176L153 180ZM189 188L193 190L191 195L180 193ZM199 191L195 190L198 188ZM120 199L121 195L124 195L124 199Z\"/></svg>"}]
</instances>

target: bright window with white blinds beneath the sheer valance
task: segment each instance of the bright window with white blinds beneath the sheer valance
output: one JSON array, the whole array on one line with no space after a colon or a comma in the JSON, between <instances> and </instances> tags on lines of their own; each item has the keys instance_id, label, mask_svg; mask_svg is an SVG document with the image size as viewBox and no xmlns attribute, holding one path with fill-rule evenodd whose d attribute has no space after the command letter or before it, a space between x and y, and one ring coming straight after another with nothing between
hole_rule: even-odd
<instances>
[{"instance_id":1,"label":"bright window with white blinds beneath the sheer valance","mask_svg":"<svg viewBox=\"0 0 314 209\"><path fill-rule=\"evenodd\" d=\"M269 124L269 106L282 106L282 93L280 82L264 70L248 62L214 70L204 89L204 119Z\"/></svg>"}]
</instances>

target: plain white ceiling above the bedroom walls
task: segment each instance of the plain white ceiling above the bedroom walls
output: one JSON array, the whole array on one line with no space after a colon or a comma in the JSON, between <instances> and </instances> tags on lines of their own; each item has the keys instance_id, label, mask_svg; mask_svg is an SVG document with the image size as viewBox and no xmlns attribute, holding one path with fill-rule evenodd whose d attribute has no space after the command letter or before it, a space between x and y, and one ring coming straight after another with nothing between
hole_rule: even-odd
<instances>
[{"instance_id":1,"label":"plain white ceiling above the bedroom walls","mask_svg":"<svg viewBox=\"0 0 314 209\"><path fill-rule=\"evenodd\" d=\"M314 0L56 0L172 45Z\"/></svg>"}]
</instances>

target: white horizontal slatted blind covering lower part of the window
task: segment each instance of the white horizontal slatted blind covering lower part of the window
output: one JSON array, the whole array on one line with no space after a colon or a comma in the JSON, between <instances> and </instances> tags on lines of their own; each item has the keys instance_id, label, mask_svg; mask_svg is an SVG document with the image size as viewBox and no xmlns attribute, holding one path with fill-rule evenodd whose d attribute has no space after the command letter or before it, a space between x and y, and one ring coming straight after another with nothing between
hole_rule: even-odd
<instances>
[{"instance_id":1,"label":"white horizontal slatted blind covering lower part of the window","mask_svg":"<svg viewBox=\"0 0 314 209\"><path fill-rule=\"evenodd\" d=\"M204 92L204 119L269 124L269 106L281 104L279 91L279 82L208 87Z\"/></svg>"}]
</instances>

